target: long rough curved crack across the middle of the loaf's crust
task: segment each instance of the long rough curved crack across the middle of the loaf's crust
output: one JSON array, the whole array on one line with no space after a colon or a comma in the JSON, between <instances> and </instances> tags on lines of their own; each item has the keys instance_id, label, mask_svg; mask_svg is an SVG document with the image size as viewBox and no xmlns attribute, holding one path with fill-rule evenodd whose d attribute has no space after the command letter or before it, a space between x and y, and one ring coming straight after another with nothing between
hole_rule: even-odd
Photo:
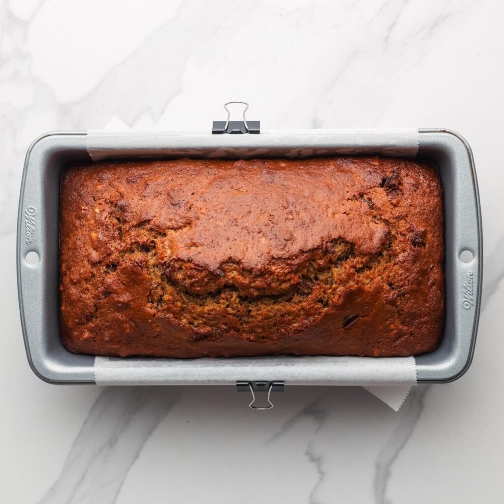
<instances>
[{"instance_id":1,"label":"long rough curved crack across the middle of the loaf's crust","mask_svg":"<svg viewBox=\"0 0 504 504\"><path fill-rule=\"evenodd\" d=\"M122 232L122 240L131 243L129 248L119 251L118 263L101 267L105 275L117 276L121 263L139 262L151 278L146 302L153 310L153 317L169 318L172 306L180 305L178 322L194 331L196 340L216 339L230 330L254 340L274 339L284 326L296 322L307 301L314 303L320 317L338 288L346 285L342 278L360 275L365 284L362 274L366 273L369 281L369 272L379 267L391 245L387 241L379 254L356 254L353 243L337 238L313 250L301 251L295 258L274 258L261 272L228 260L214 274L187 261L160 262L156 245L166 233L149 229L148 224L143 221L131 226L130 234L133 230L141 231L139 241L131 242L128 232ZM136 234L134 239L138 238ZM289 316L293 308L295 311ZM342 328L350 326L348 317L355 322L364 316L345 316ZM225 326L222 318L226 319ZM87 323L88 319L83 322ZM298 325L295 332L303 329Z\"/></svg>"}]
</instances>

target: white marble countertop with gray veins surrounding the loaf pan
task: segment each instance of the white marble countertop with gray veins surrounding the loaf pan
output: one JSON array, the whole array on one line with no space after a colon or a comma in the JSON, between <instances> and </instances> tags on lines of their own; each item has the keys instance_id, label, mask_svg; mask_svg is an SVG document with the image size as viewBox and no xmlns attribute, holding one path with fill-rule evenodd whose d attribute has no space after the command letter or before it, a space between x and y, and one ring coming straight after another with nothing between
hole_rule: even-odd
<instances>
[{"instance_id":1,"label":"white marble countertop with gray veins surrounding the loaf pan","mask_svg":"<svg viewBox=\"0 0 504 504\"><path fill-rule=\"evenodd\" d=\"M504 8L473 0L0 1L0 500L501 502ZM471 369L399 413L361 388L51 386L30 370L15 228L23 158L50 130L447 127L470 142L484 228Z\"/></svg>"}]
</instances>

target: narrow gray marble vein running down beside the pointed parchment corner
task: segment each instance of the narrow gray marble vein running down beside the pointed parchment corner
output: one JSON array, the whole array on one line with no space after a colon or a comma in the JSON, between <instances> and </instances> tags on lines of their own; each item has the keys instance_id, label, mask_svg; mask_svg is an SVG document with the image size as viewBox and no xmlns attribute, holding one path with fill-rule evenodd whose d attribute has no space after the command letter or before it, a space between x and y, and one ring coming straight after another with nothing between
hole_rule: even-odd
<instances>
[{"instance_id":1,"label":"narrow gray marble vein running down beside the pointed parchment corner","mask_svg":"<svg viewBox=\"0 0 504 504\"><path fill-rule=\"evenodd\" d=\"M376 457L373 482L376 504L392 504L387 499L387 485L391 475L391 467L415 428L424 407L423 398L429 387L430 385L419 385L412 388L405 404L402 406L402 417L399 424Z\"/></svg>"}]
</instances>

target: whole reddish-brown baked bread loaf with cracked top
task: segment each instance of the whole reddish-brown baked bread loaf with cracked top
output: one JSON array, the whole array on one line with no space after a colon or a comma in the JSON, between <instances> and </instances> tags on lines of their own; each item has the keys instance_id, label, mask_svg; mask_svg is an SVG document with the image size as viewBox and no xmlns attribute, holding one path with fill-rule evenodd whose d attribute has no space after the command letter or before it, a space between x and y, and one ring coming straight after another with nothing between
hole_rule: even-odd
<instances>
[{"instance_id":1,"label":"whole reddish-brown baked bread loaf with cracked top","mask_svg":"<svg viewBox=\"0 0 504 504\"><path fill-rule=\"evenodd\" d=\"M444 323L436 168L379 157L65 169L71 352L406 356Z\"/></svg>"}]
</instances>

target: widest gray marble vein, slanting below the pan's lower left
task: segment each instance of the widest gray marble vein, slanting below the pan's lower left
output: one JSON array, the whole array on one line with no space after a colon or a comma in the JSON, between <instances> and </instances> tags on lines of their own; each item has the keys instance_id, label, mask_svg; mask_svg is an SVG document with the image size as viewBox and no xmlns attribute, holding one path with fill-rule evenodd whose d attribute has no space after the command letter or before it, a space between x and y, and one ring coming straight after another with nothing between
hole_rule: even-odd
<instances>
[{"instance_id":1,"label":"widest gray marble vein, slanting below the pan's lower left","mask_svg":"<svg viewBox=\"0 0 504 504\"><path fill-rule=\"evenodd\" d=\"M108 387L40 504L115 502L144 444L178 398L171 387Z\"/></svg>"}]
</instances>

